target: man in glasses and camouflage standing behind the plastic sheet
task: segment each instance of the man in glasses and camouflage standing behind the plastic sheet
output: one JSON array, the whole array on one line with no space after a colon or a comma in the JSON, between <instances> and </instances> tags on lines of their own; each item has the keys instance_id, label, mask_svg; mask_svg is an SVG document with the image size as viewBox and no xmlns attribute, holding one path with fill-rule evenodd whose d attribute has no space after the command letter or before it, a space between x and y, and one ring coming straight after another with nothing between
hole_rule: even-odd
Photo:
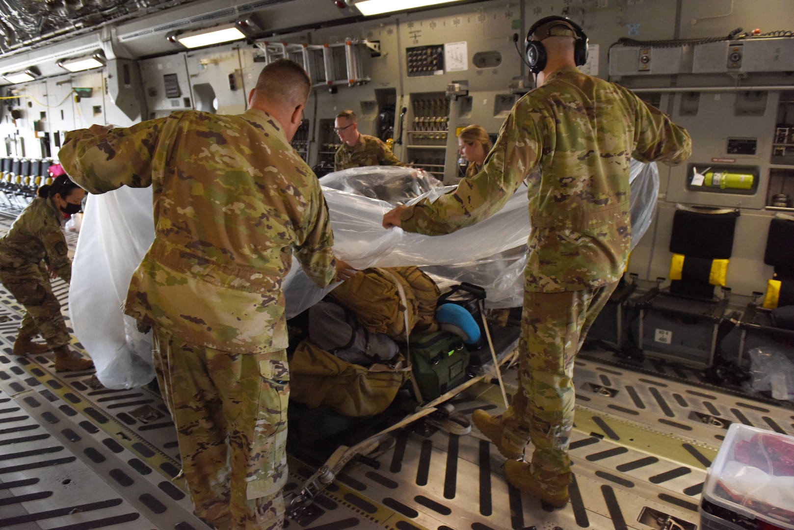
<instances>
[{"instance_id":1,"label":"man in glasses and camouflage standing behind the plastic sheet","mask_svg":"<svg viewBox=\"0 0 794 530\"><path fill-rule=\"evenodd\" d=\"M353 110L342 110L337 114L333 130L342 141L333 158L333 171L369 165L407 165L400 162L379 138L358 132L358 120Z\"/></svg>"}]
</instances>

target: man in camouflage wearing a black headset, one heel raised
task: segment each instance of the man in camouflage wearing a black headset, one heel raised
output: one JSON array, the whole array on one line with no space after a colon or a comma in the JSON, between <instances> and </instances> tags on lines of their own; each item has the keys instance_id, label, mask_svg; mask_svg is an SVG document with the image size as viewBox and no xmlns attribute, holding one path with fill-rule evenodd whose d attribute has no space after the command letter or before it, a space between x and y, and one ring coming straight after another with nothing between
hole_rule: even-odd
<instances>
[{"instance_id":1,"label":"man in camouflage wearing a black headset, one heel raised","mask_svg":"<svg viewBox=\"0 0 794 530\"><path fill-rule=\"evenodd\" d=\"M449 234L499 211L526 180L530 199L519 388L502 415L474 424L507 458L508 482L550 505L569 501L573 362L626 266L629 161L679 164L688 133L623 87L580 73L584 31L537 21L526 58L538 87L511 110L483 169L434 203L384 215L384 226ZM531 441L531 462L523 462Z\"/></svg>"}]
</instances>

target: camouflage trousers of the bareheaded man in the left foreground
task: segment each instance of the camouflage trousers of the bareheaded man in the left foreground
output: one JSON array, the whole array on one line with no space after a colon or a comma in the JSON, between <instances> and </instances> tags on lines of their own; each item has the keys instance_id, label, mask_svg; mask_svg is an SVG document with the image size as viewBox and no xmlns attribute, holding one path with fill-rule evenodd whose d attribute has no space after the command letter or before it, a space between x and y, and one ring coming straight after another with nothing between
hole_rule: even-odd
<instances>
[{"instance_id":1,"label":"camouflage trousers of the bareheaded man in the left foreground","mask_svg":"<svg viewBox=\"0 0 794 530\"><path fill-rule=\"evenodd\" d=\"M196 515L223 530L283 528L286 351L236 354L154 331L157 381Z\"/></svg>"}]
</instances>

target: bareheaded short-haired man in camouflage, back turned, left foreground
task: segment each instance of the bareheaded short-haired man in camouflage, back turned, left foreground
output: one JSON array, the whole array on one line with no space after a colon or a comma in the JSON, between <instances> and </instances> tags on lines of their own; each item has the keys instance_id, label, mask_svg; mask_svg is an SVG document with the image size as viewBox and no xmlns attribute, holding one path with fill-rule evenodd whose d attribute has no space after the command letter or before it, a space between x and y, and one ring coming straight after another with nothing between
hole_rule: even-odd
<instances>
[{"instance_id":1,"label":"bareheaded short-haired man in camouflage, back turned, left foreground","mask_svg":"<svg viewBox=\"0 0 794 530\"><path fill-rule=\"evenodd\" d=\"M310 87L303 68L277 60L244 114L188 110L129 129L91 126L67 133L59 153L91 193L152 185L155 240L125 313L154 327L187 485L197 515L216 528L283 527L282 281L293 250L315 284L337 274L325 199L289 143Z\"/></svg>"}]
</instances>

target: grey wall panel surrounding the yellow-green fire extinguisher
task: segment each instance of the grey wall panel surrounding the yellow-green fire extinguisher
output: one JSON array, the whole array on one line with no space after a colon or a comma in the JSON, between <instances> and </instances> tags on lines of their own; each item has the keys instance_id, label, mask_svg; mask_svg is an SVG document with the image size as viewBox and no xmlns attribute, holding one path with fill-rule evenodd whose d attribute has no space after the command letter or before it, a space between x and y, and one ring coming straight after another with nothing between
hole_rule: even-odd
<instances>
[{"instance_id":1,"label":"grey wall panel surrounding the yellow-green fire extinguisher","mask_svg":"<svg viewBox=\"0 0 794 530\"><path fill-rule=\"evenodd\" d=\"M769 182L769 157L777 117L780 92L701 92L696 114L683 116L676 107L673 120L692 136L692 157L673 168L667 187L667 200L716 207L761 209L766 201ZM751 101L757 99L757 102ZM765 101L764 101L765 99ZM752 108L751 108L752 107ZM739 115L746 112L757 115ZM729 153L728 139L757 141L754 154ZM728 193L726 189L688 186L690 164L705 174L707 168L718 166L730 171L733 166L758 168L757 188L751 195Z\"/></svg>"}]
</instances>

